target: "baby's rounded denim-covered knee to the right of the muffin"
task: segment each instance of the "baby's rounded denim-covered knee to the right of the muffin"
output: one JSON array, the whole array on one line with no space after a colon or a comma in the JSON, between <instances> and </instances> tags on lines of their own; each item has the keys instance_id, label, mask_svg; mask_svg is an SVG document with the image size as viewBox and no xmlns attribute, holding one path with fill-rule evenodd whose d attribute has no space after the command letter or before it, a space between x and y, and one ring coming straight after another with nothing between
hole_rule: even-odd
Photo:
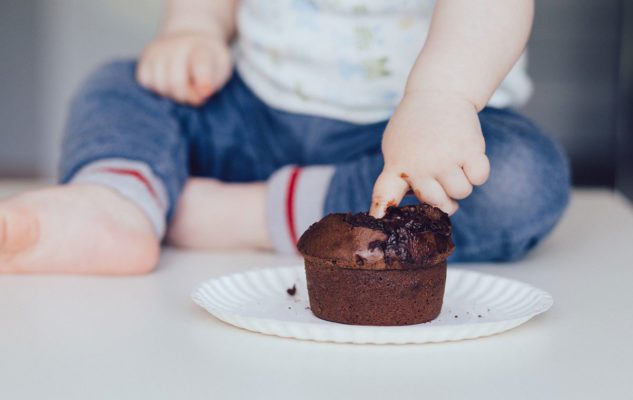
<instances>
[{"instance_id":1,"label":"baby's rounded denim-covered knee to the right of the muffin","mask_svg":"<svg viewBox=\"0 0 633 400\"><path fill-rule=\"evenodd\" d=\"M493 146L494 147L494 146ZM522 257L561 218L570 196L569 164L561 147L538 131L516 132L491 149L485 207L498 222L499 261Z\"/></svg>"}]
</instances>

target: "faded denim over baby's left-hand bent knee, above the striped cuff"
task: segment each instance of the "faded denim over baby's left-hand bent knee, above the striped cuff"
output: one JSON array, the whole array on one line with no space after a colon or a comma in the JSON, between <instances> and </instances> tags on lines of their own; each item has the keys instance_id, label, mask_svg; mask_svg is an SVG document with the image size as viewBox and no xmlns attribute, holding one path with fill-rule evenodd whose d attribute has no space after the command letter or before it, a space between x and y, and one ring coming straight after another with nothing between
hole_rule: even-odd
<instances>
[{"instance_id":1,"label":"faded denim over baby's left-hand bent knee, above the striped cuff","mask_svg":"<svg viewBox=\"0 0 633 400\"><path fill-rule=\"evenodd\" d=\"M179 106L139 86L135 70L133 61L112 62L80 88L70 106L60 181L101 159L140 161L164 184L171 215L188 175L187 137Z\"/></svg>"}]
</instances>

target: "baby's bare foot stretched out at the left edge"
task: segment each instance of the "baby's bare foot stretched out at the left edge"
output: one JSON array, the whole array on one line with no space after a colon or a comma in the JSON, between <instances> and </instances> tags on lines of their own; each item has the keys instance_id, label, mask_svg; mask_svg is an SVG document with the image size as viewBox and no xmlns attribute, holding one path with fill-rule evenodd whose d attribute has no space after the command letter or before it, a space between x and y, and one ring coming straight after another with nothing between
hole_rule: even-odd
<instances>
[{"instance_id":1,"label":"baby's bare foot stretched out at the left edge","mask_svg":"<svg viewBox=\"0 0 633 400\"><path fill-rule=\"evenodd\" d=\"M0 202L0 273L139 274L158 257L149 220L110 189L54 186Z\"/></svg>"}]
</instances>

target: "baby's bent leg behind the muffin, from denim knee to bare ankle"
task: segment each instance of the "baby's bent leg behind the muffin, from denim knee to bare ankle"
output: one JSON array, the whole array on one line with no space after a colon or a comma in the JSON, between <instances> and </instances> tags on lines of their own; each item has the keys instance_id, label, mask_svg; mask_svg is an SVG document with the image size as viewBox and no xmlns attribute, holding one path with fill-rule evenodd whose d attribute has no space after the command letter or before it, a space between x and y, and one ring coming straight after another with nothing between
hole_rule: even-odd
<instances>
[{"instance_id":1,"label":"baby's bent leg behind the muffin, from denim knee to bare ankle","mask_svg":"<svg viewBox=\"0 0 633 400\"><path fill-rule=\"evenodd\" d=\"M534 247L560 219L569 197L567 160L551 139L516 113L486 109L480 120L492 172L486 184L459 202L460 209L452 217L457 245L452 259L513 260ZM195 248L248 242L292 253L297 238L323 215L367 211L383 167L379 133L385 123L359 126L328 121L326 127L330 129L320 132L322 141L313 141L312 152L306 152L311 153L306 163L318 166L282 167L266 184L192 181L183 192L172 240ZM224 197L221 208L205 208L210 198L223 198L212 195L220 192L250 195ZM411 203L417 203L412 196L403 201ZM247 212L239 214L243 210ZM267 237L262 229L264 212ZM232 215L244 218L232 219ZM226 236L218 237L213 228L218 223L230 227Z\"/></svg>"}]
</instances>

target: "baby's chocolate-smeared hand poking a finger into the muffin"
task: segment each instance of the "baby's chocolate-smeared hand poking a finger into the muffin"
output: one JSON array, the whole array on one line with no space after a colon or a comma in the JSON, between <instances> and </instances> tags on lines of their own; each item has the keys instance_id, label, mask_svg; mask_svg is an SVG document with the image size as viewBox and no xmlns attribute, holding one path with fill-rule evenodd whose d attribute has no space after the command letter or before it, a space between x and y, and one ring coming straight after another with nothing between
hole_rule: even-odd
<instances>
[{"instance_id":1,"label":"baby's chocolate-smeared hand poking a finger into the muffin","mask_svg":"<svg viewBox=\"0 0 633 400\"><path fill-rule=\"evenodd\" d=\"M458 208L453 199L468 197L490 171L477 110L452 94L407 93L387 125L382 151L385 165L370 210L376 218L398 205L409 187L420 201L452 214Z\"/></svg>"}]
</instances>

